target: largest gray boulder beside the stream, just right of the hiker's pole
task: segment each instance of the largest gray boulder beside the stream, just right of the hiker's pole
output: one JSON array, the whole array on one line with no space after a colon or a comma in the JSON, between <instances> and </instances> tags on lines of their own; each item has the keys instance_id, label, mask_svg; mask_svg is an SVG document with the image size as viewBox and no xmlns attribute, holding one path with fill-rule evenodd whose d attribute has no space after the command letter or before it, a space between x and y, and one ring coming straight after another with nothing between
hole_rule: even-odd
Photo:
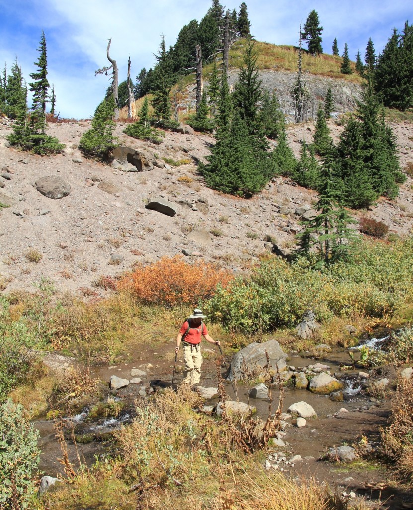
<instances>
[{"instance_id":1,"label":"largest gray boulder beside the stream, just right of the hiker's pole","mask_svg":"<svg viewBox=\"0 0 413 510\"><path fill-rule=\"evenodd\" d=\"M253 342L240 351L237 352L232 358L231 367L229 370L228 379L242 379L246 374L243 373L244 366L246 370L262 368L264 365L267 365L267 355L265 351L268 352L270 358L270 368L276 370L284 370L286 363L285 359L287 354L281 349L280 344L277 340L268 340L267 342Z\"/></svg>"}]
</instances>

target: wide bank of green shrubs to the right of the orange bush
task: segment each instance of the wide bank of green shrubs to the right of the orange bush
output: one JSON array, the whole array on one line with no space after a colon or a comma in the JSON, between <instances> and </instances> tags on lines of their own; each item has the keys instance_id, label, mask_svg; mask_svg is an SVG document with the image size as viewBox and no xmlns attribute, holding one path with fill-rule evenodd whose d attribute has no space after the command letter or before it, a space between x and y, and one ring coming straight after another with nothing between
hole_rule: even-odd
<instances>
[{"instance_id":1,"label":"wide bank of green shrubs to the right of the orange bush","mask_svg":"<svg viewBox=\"0 0 413 510\"><path fill-rule=\"evenodd\" d=\"M303 259L261 262L248 278L234 279L204 303L204 312L229 330L296 326L307 309L318 320L390 316L413 301L413 239L387 245L366 242L349 262L323 271Z\"/></svg>"}]
</instances>

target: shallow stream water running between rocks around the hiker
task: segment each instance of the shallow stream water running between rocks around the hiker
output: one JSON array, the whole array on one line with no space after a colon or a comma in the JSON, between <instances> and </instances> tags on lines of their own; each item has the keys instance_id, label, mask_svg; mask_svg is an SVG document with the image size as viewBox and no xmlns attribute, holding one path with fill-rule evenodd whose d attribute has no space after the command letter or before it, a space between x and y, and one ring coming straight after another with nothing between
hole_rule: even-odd
<instances>
[{"instance_id":1,"label":"shallow stream water running between rocks around the hiker","mask_svg":"<svg viewBox=\"0 0 413 510\"><path fill-rule=\"evenodd\" d=\"M385 340L386 338L373 338L367 341L364 345L367 345L370 348L379 348L379 345ZM322 364L328 365L330 367L328 371L332 375L336 375L340 378L345 385L345 388L343 389L344 402L334 402L328 396L316 395L306 390L297 390L288 385L284 388L283 412L286 412L291 404L305 401L313 407L317 414L317 418L312 419L309 422L309 427L312 428L311 432L313 432L313 436L315 436L315 430L319 430L317 440L311 440L313 443L311 451L313 452L322 451L328 443L339 444L343 441L340 426L337 427L334 425L331 427L332 430L330 431L322 430L323 420L328 421L337 415L343 407L345 407L345 409L349 412L367 412L371 406L374 406L374 402L371 402L368 396L366 396L362 391L365 379L359 377L359 371L364 371L364 369L346 371L340 370L340 364L348 365L350 363L348 351L349 349L344 348L334 349L332 352L324 353L320 360L306 358L294 352L289 354L287 366L297 368L308 367L318 361ZM140 353L140 355L142 356L142 353ZM130 384L127 388L119 390L115 397L110 394L110 390L108 388L106 397L115 401L122 401L124 404L124 409L117 418L100 418L90 421L88 420L88 415L91 407L85 407L81 410L81 412L72 417L76 437L80 438L76 446L82 463L90 466L95 462L97 457L108 452L110 453L114 446L113 443L107 442L106 440L112 435L115 429L118 429L133 420L134 402L139 398L139 392L142 392L143 388L145 388L146 393L148 393L170 386L170 381L172 379L171 366L166 362L161 362L161 364L159 364L159 355L155 359L154 356L152 356L151 359L151 356L148 355L147 358L140 358L140 362L143 363L140 363L138 365L139 367L144 368L149 363L152 366L151 369L147 370L147 376L142 377L142 382L140 384ZM106 366L95 367L94 375L100 377L103 381L109 381L110 375L117 375L119 377L130 379L132 368L136 368L133 363L122 363L117 366L111 366L110 368ZM205 359L202 365L200 385L207 388L216 387L217 381L215 374L215 361L213 359ZM181 379L181 374L175 374L175 382L179 384ZM238 399L241 402L254 405L257 409L257 415L263 419L267 419L269 413L269 402L249 398L248 390L251 388L252 386L247 387L246 385L237 384L235 394L231 385L225 384L228 400ZM273 397L271 413L274 413L278 406L280 392L277 389L272 389L271 391ZM217 399L206 401L205 405L216 405L217 402ZM62 453L60 445L55 438L53 422L38 419L34 420L34 424L40 432L39 444L42 453L39 470L51 476L63 473L63 465L57 460L62 456ZM287 441L289 433L290 431L292 432L293 429L297 430L296 427L289 427L287 429ZM301 430L300 433L302 433ZM348 435L348 430L346 430L346 433ZM307 435L303 438L303 444L308 442ZM76 447L70 439L67 439L67 445L70 461L76 469L78 466Z\"/></svg>"}]
</instances>

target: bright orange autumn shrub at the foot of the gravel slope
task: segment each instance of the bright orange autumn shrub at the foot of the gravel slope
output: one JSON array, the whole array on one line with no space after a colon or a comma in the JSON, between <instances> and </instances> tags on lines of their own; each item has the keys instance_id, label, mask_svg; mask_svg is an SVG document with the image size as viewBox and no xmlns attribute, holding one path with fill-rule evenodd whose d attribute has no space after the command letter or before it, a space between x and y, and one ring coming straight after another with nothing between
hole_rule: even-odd
<instances>
[{"instance_id":1,"label":"bright orange autumn shrub at the foot of the gravel slope","mask_svg":"<svg viewBox=\"0 0 413 510\"><path fill-rule=\"evenodd\" d=\"M214 264L188 264L181 256L162 257L158 262L135 266L119 282L118 289L131 290L145 304L196 306L214 295L217 284L225 287L232 275Z\"/></svg>"}]
</instances>

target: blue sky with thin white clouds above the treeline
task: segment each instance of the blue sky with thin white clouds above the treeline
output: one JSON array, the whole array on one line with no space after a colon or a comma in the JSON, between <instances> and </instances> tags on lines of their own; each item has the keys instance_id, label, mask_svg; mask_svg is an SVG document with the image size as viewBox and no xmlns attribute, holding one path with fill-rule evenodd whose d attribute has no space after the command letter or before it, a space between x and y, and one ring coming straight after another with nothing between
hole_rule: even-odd
<instances>
[{"instance_id":1,"label":"blue sky with thin white clouds above the treeline","mask_svg":"<svg viewBox=\"0 0 413 510\"><path fill-rule=\"evenodd\" d=\"M224 4L239 10L239 2ZM312 9L323 27L322 47L331 53L337 37L340 54L347 42L355 59L364 58L369 37L376 54L385 46L393 28L402 30L411 19L406 0L246 0L252 34L260 41L297 44L300 23ZM166 46L173 45L184 24L198 21L210 0L0 0L0 69L11 68L16 56L24 78L35 70L41 31L47 41L49 82L54 84L56 111L64 117L89 117L105 94L108 79L95 77L95 70L108 65L107 39L112 38L111 56L126 80L128 55L133 80L142 67L153 66L161 34ZM410 19L409 19L410 16Z\"/></svg>"}]
</instances>

